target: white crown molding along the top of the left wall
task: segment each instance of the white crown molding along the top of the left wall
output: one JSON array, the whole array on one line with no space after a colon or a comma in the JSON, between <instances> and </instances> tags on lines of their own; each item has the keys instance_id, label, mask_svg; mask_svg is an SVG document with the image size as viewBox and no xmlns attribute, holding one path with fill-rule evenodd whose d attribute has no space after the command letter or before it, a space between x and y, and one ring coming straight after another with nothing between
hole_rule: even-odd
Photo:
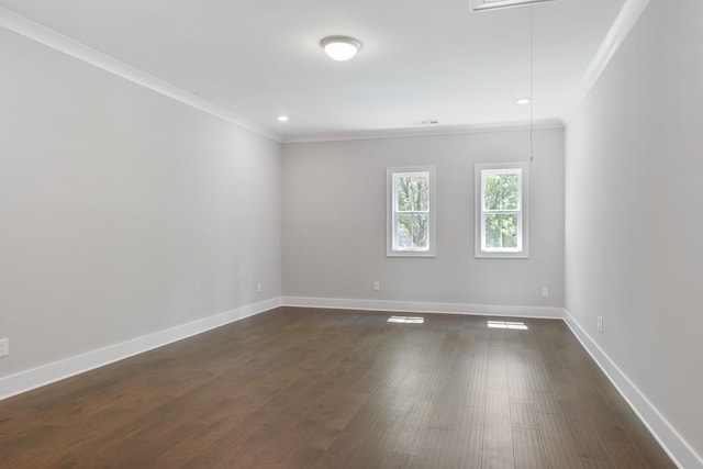
<instances>
[{"instance_id":1,"label":"white crown molding along the top of the left wall","mask_svg":"<svg viewBox=\"0 0 703 469\"><path fill-rule=\"evenodd\" d=\"M71 40L56 31L42 24L35 23L20 14L0 7L0 26L12 31L40 44L59 51L74 58L82 60L94 67L101 68L118 77L130 80L159 94L179 101L199 111L205 112L215 118L230 122L247 131L263 135L267 138L280 142L280 136L276 135L260 125L235 114L234 112L208 101L199 96L183 90L175 85L156 78L136 67L127 65L114 57L96 51L78 41Z\"/></svg>"}]
</instances>

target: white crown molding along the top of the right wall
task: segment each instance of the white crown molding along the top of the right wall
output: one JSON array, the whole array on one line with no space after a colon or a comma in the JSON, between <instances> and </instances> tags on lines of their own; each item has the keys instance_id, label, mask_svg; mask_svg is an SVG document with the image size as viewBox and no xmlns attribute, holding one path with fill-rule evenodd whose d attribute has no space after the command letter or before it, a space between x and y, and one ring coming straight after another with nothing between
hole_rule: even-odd
<instances>
[{"instance_id":1,"label":"white crown molding along the top of the right wall","mask_svg":"<svg viewBox=\"0 0 703 469\"><path fill-rule=\"evenodd\" d=\"M569 123L576 115L576 112L580 108L585 97L591 91L591 88L595 85L598 79L607 67L620 46L623 44L632 29L639 20L639 16L645 11L645 8L649 4L649 0L625 0L622 10L617 14L617 18L613 22L610 31L605 35L603 43L599 47L593 60L585 70L585 75L581 79L577 99L573 101L572 109L567 114L566 123Z\"/></svg>"}]
</instances>

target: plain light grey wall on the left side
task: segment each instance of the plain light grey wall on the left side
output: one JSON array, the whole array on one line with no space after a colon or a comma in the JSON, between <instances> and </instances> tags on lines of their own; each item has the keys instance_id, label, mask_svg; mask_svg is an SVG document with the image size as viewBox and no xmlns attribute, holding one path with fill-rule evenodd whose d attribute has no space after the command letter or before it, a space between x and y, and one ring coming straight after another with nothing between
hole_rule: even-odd
<instances>
[{"instance_id":1,"label":"plain light grey wall on the left side","mask_svg":"<svg viewBox=\"0 0 703 469\"><path fill-rule=\"evenodd\" d=\"M0 378L280 295L280 144L1 29L0 57Z\"/></svg>"}]
</instances>

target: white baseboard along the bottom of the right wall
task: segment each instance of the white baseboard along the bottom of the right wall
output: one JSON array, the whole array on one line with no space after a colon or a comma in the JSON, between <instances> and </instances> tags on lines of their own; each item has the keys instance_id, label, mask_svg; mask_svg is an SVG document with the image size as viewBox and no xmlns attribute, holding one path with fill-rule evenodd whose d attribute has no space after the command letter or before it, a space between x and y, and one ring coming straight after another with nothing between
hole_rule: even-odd
<instances>
[{"instance_id":1,"label":"white baseboard along the bottom of the right wall","mask_svg":"<svg viewBox=\"0 0 703 469\"><path fill-rule=\"evenodd\" d=\"M683 439L661 412L637 389L627 375L603 351L566 309L563 310L563 321L673 462L680 468L703 468L703 458L695 453L693 447Z\"/></svg>"}]
</instances>

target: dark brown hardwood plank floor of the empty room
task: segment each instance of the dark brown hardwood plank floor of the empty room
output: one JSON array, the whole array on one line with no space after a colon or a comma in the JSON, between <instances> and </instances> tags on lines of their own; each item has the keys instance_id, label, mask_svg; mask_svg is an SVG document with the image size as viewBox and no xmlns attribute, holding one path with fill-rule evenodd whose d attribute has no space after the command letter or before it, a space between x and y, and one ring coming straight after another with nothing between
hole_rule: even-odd
<instances>
[{"instance_id":1,"label":"dark brown hardwood plank floor of the empty room","mask_svg":"<svg viewBox=\"0 0 703 469\"><path fill-rule=\"evenodd\" d=\"M389 316L279 309L8 399L0 467L673 467L563 323Z\"/></svg>"}]
</instances>

